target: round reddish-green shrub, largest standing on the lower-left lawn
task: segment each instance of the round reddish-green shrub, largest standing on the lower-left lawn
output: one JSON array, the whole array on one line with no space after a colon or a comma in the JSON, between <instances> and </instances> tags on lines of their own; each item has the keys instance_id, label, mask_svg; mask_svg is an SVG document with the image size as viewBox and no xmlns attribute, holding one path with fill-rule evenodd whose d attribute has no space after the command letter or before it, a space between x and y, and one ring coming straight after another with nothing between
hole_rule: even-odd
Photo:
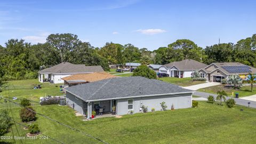
<instances>
[{"instance_id":1,"label":"round reddish-green shrub, largest standing on the lower-left lawn","mask_svg":"<svg viewBox=\"0 0 256 144\"><path fill-rule=\"evenodd\" d=\"M20 110L20 119L22 122L30 122L30 121L35 121L36 120L36 113L32 107L27 107L27 108L22 108Z\"/></svg>"}]
</instances>

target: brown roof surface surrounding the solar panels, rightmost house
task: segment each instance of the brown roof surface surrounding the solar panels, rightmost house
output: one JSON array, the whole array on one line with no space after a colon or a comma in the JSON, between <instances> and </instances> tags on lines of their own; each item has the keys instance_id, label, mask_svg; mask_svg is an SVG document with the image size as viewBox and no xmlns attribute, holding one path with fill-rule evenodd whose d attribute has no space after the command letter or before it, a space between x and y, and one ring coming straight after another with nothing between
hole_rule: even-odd
<instances>
[{"instance_id":1,"label":"brown roof surface surrounding the solar panels, rightmost house","mask_svg":"<svg viewBox=\"0 0 256 144\"><path fill-rule=\"evenodd\" d=\"M229 73L227 70L225 70L224 68L222 68L223 66L247 66L244 65L243 63L240 62L215 62L212 63L211 65L215 65L217 66L220 71L222 71L223 73L225 73L226 75L235 75L235 74L248 74L248 73ZM209 65L210 66L210 65ZM208 66L207 66L208 67ZM206 68L207 68L206 67ZM250 66L249 66L250 67ZM250 67L251 69L251 73L255 74L256 73L256 69L253 67ZM207 71L207 70L206 70ZM212 73L214 70L210 71L209 73Z\"/></svg>"}]
</instances>

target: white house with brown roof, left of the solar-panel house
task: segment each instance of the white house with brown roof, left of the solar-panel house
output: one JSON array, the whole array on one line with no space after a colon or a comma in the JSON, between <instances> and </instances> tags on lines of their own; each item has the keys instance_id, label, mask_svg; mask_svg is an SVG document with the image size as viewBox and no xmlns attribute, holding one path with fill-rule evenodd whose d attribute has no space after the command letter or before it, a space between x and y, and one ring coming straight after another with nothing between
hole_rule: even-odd
<instances>
[{"instance_id":1,"label":"white house with brown roof, left of the solar-panel house","mask_svg":"<svg viewBox=\"0 0 256 144\"><path fill-rule=\"evenodd\" d=\"M174 61L163 65L159 68L159 73L168 74L170 77L191 77L191 74L194 71L198 71L200 69L205 68L205 65L202 62L186 59L182 61Z\"/></svg>"}]
</instances>

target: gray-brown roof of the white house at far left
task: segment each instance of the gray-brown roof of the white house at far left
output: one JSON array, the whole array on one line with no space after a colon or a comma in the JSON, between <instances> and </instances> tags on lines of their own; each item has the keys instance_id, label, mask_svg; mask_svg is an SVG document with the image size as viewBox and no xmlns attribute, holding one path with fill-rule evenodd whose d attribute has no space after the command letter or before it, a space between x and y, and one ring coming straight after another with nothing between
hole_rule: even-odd
<instances>
[{"instance_id":1,"label":"gray-brown roof of the white house at far left","mask_svg":"<svg viewBox=\"0 0 256 144\"><path fill-rule=\"evenodd\" d=\"M50 68L46 68L38 71L38 73L47 74L77 74L77 73L93 73L103 72L101 66L85 66L85 65L74 65L69 62L62 62Z\"/></svg>"}]
</instances>

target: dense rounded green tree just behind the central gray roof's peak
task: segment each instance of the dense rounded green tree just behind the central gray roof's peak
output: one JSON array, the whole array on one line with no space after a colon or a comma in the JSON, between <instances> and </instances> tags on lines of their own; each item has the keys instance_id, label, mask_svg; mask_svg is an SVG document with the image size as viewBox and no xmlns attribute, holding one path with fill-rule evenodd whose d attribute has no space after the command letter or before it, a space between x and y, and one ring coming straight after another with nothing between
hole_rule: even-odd
<instances>
[{"instance_id":1,"label":"dense rounded green tree just behind the central gray roof's peak","mask_svg":"<svg viewBox=\"0 0 256 144\"><path fill-rule=\"evenodd\" d=\"M133 70L132 76L142 76L150 79L156 79L154 70L148 68L146 65L141 65Z\"/></svg>"}]
</instances>

